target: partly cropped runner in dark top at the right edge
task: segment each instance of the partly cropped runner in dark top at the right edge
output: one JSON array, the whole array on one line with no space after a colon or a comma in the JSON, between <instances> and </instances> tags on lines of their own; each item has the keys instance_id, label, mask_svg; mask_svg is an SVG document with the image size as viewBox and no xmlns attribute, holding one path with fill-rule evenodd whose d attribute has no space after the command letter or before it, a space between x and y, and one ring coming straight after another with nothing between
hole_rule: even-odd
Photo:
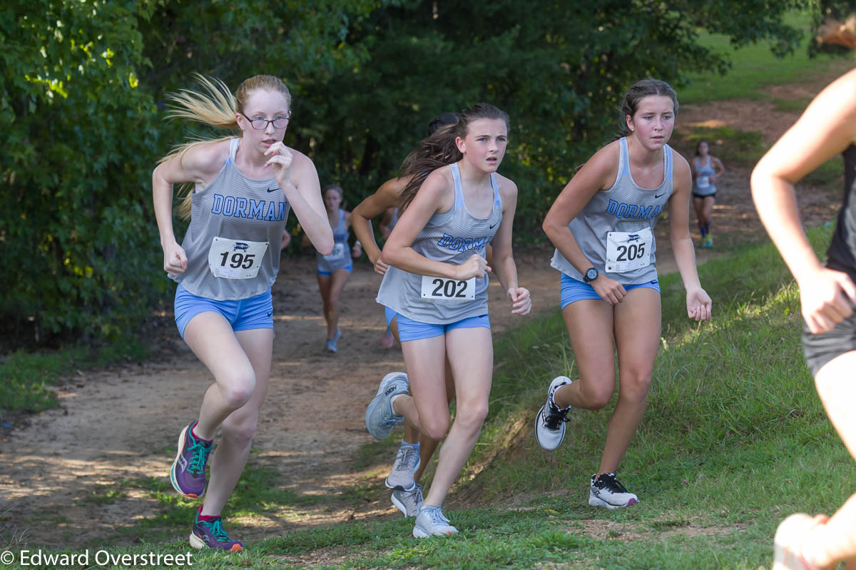
<instances>
[{"instance_id":1,"label":"partly cropped runner in dark top at the right edge","mask_svg":"<svg viewBox=\"0 0 856 570\"><path fill-rule=\"evenodd\" d=\"M856 50L856 17L828 22L818 40ZM856 459L856 69L823 89L752 171L752 198L764 228L800 287L803 351L817 395ZM844 157L844 196L821 264L800 222L794 185L829 158ZM818 477L829 476L821 471ZM830 485L844 484L829 479ZM853 490L853 489L851 489ZM793 499L793 497L790 497ZM774 570L856 570L856 494L830 518L799 513L779 525Z\"/></svg>"}]
</instances>

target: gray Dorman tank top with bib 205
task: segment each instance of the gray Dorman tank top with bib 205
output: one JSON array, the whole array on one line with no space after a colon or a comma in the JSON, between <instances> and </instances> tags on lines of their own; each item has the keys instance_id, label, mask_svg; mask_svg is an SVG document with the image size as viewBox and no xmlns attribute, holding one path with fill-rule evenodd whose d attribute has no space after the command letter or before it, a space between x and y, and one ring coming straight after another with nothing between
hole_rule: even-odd
<instances>
[{"instance_id":1,"label":"gray Dorman tank top with bib 205","mask_svg":"<svg viewBox=\"0 0 856 570\"><path fill-rule=\"evenodd\" d=\"M609 190L596 192L568 228L594 268L620 282L635 285L657 279L654 225L666 205L672 187L672 149L663 146L663 183L642 188L633 181L622 138L618 151L618 175ZM558 249L550 266L565 275L583 280L583 276ZM587 269L587 268L586 268Z\"/></svg>"}]
</instances>

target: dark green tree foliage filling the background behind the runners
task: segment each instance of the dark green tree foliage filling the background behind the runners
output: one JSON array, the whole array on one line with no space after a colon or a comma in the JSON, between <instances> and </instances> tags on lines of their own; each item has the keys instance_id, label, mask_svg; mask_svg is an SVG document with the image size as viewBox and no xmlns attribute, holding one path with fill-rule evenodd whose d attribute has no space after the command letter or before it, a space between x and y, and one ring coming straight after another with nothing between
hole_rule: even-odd
<instances>
[{"instance_id":1,"label":"dark green tree foliage filling the background behind the runners","mask_svg":"<svg viewBox=\"0 0 856 570\"><path fill-rule=\"evenodd\" d=\"M766 0L11 0L0 8L0 319L111 334L165 299L151 171L197 132L163 122L193 73L253 74L294 95L287 143L354 205L433 116L488 101L512 118L502 171L518 235L619 127L623 90L728 62L698 31L793 50L808 2ZM680 97L680 89L679 89ZM204 130L204 129L203 129ZM180 237L180 236L179 236Z\"/></svg>"}]
</instances>

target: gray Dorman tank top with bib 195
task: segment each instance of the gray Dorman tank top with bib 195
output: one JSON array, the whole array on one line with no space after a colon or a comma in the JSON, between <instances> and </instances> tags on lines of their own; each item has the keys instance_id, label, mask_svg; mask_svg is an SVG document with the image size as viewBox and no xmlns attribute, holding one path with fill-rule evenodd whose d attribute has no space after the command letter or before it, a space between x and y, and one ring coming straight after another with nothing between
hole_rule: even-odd
<instances>
[{"instance_id":1,"label":"gray Dorman tank top with bib 195","mask_svg":"<svg viewBox=\"0 0 856 570\"><path fill-rule=\"evenodd\" d=\"M288 201L276 178L241 174L235 166L240 142L230 141L229 158L211 185L193 191L190 226L181 241L187 270L172 279L199 297L247 299L265 293L279 272Z\"/></svg>"}]
</instances>

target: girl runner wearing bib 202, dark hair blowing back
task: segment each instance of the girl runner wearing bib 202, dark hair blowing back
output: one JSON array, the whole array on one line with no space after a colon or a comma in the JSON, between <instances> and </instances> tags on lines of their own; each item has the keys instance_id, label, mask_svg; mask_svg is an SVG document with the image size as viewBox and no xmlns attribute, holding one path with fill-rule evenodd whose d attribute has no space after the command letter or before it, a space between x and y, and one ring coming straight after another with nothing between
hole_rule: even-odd
<instances>
[{"instance_id":1,"label":"girl runner wearing bib 202, dark hair blowing back","mask_svg":"<svg viewBox=\"0 0 856 570\"><path fill-rule=\"evenodd\" d=\"M531 308L511 255L517 187L496 174L508 144L508 116L490 104L473 105L461 111L454 128L437 131L423 144L443 149L449 165L438 168L445 160L436 157L413 164L413 171L430 174L414 175L401 191L401 219L383 246L389 269L377 294L389 324L398 327L407 375L383 377L366 408L366 428L378 439L407 419L439 441L449 430L448 357L458 380L455 424L416 514L414 537L457 532L442 505L487 413L493 374L488 273L495 270L512 313ZM492 268L484 258L491 241Z\"/></svg>"}]
</instances>

